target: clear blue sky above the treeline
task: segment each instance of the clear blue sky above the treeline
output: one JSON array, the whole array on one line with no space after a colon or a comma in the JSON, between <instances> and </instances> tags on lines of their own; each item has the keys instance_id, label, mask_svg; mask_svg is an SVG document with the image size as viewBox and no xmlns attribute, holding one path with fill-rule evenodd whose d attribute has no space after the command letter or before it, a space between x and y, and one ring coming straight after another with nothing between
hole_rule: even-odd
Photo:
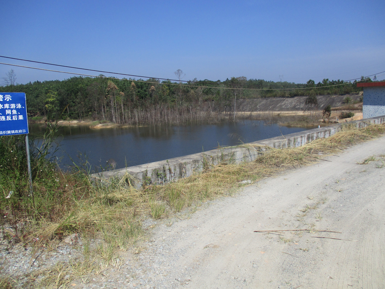
<instances>
[{"instance_id":1,"label":"clear blue sky above the treeline","mask_svg":"<svg viewBox=\"0 0 385 289\"><path fill-rule=\"evenodd\" d=\"M0 7L0 55L9 57L170 79L181 69L183 80L283 75L303 83L385 71L383 0L1 0ZM0 77L11 68L18 83L71 76L0 65Z\"/></svg>"}]
</instances>

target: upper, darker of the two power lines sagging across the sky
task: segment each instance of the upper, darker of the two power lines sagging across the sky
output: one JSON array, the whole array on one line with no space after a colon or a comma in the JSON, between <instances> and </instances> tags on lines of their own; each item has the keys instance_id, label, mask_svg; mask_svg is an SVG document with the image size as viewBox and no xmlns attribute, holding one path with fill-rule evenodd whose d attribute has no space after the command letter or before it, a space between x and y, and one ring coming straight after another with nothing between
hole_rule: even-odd
<instances>
[{"instance_id":1,"label":"upper, darker of the two power lines sagging across the sky","mask_svg":"<svg viewBox=\"0 0 385 289\"><path fill-rule=\"evenodd\" d=\"M133 75L133 74L125 74L125 73L119 73L119 72L109 72L109 71L100 71L100 70L95 70L95 69L87 69L87 68L81 68L81 67L74 67L74 66L65 66L65 65L60 65L60 64L53 64L53 63L48 63L48 62L40 62L40 61L35 61L35 60L28 60L28 59L20 59L20 58L15 58L15 57L8 57L8 56L2 56L0 55L0 57L3 57L3 58L8 58L8 59L15 59L15 60L22 60L22 61L28 61L28 62L35 62L35 63L40 63L40 64L47 64L47 65L53 65L53 66L60 66L60 67L67 67L67 68L74 68L74 69L80 69L80 70L87 70L87 71L95 71L95 72L102 72L102 73L111 73L111 74L118 74L118 75L124 75L124 76L134 76L134 77L143 77L143 78L152 78L152 79L161 79L161 80L169 80L169 81L179 81L179 82L189 82L189 83L199 83L199 84L210 84L210 85L215 85L215 84L218 84L218 83L210 83L210 82L202 82L202 81L189 81L189 80L177 80L177 79L166 79L166 78L158 78L158 77L148 77L148 76L139 76L139 75ZM33 67L29 67L29 68L33 68ZM383 71L385 72L385 71ZM380 73L383 73L383 72L379 72L377 74L380 74ZM63 73L67 73L67 72L63 72ZM75 73L73 73L75 74ZM79 74L78 74L79 75ZM85 75L85 74L80 74L80 75ZM372 74L370 76L374 76L375 74ZM369 76L366 76L366 77L369 77ZM361 79L361 78L355 78L355 79L349 79L349 80L346 80L344 82L348 82L348 81L355 81L357 79ZM140 82L140 81L138 81ZM288 84L288 85L256 85L256 84L224 84L224 85L228 85L228 86L238 86L238 85L242 85L242 86L262 86L262 87L289 87L289 86L304 86L306 84ZM202 87L202 86L201 86ZM323 86L325 87L325 86ZM308 88L308 87L303 87L303 88ZM287 88L287 89L290 89L290 88ZM302 89L302 88L295 88L295 89ZM278 90L278 89L276 89Z\"/></svg>"}]
</instances>

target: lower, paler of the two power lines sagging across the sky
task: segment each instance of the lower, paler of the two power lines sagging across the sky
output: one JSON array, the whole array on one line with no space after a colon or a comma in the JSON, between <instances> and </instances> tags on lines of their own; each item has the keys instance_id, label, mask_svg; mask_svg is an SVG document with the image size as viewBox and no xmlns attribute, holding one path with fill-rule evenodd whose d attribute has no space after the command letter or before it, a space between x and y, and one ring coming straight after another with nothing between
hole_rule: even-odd
<instances>
[{"instance_id":1,"label":"lower, paler of the two power lines sagging across the sky","mask_svg":"<svg viewBox=\"0 0 385 289\"><path fill-rule=\"evenodd\" d=\"M80 75L80 76L99 77L99 78L106 78L106 79L117 79L117 80L124 80L124 81L134 81L134 82L144 82L144 83L151 83L151 84L160 84L159 82L129 80L129 79L116 78L116 77L107 77L107 76L96 76L96 75L90 75L90 74L74 73L74 72L67 72L67 71L58 71L58 70L51 70L51 69L44 69L44 68L37 68L37 67L30 67L30 66L23 66L23 65L9 64L9 63L2 63L2 62L0 62L0 64L9 65L9 66L16 66L16 67L24 67L24 68L30 68L30 69L37 69L37 70L44 70L44 71L51 71L51 72L75 74L75 75ZM383 71L383 72L385 72L385 71ZM383 72L380 72L380 73L383 73ZM375 74L372 74L371 76L373 76L373 75L375 75ZM381 74L379 76L382 76L382 75L383 74ZM356 78L356 79L358 79L358 78ZM371 78L367 77L365 80L367 80L367 79L371 79ZM194 86L194 85L177 84L177 83L164 83L164 84L166 84L166 85L174 85L174 86L183 86L183 87L202 87L202 88L217 88L217 89L243 89L243 90L266 90L266 89L263 89L263 88L211 87L211 86ZM333 87L333 86L341 86L341 85L347 85L347 84L352 84L352 83L351 82L346 82L346 83L333 84L333 85L327 85L327 86L321 86L321 87ZM227 84L222 84L222 85L227 85ZM317 88L317 87L276 88L276 89L273 89L273 90L295 90L295 89L313 89L313 88Z\"/></svg>"}]
</instances>

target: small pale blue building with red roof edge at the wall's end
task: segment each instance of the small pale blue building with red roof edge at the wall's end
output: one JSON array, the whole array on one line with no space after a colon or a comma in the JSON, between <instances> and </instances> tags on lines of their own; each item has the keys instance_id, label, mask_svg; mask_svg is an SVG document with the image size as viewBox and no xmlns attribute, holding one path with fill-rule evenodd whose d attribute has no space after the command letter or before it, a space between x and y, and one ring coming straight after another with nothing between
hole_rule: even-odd
<instances>
[{"instance_id":1,"label":"small pale blue building with red roof edge at the wall's end","mask_svg":"<svg viewBox=\"0 0 385 289\"><path fill-rule=\"evenodd\" d=\"M357 83L363 87L363 118L385 115L385 82Z\"/></svg>"}]
</instances>

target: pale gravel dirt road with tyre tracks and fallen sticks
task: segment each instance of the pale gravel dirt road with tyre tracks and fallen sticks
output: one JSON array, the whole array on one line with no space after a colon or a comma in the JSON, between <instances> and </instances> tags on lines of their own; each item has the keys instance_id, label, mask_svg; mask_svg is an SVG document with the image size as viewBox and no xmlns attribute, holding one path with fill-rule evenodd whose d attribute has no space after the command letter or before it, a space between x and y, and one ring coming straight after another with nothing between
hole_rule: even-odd
<instances>
[{"instance_id":1,"label":"pale gravel dirt road with tyre tracks and fallen sticks","mask_svg":"<svg viewBox=\"0 0 385 289\"><path fill-rule=\"evenodd\" d=\"M377 161L357 163L373 155ZM382 137L206 203L186 220L165 220L150 230L146 249L127 254L102 284L385 288L384 156ZM253 232L295 229L313 231Z\"/></svg>"}]
</instances>

